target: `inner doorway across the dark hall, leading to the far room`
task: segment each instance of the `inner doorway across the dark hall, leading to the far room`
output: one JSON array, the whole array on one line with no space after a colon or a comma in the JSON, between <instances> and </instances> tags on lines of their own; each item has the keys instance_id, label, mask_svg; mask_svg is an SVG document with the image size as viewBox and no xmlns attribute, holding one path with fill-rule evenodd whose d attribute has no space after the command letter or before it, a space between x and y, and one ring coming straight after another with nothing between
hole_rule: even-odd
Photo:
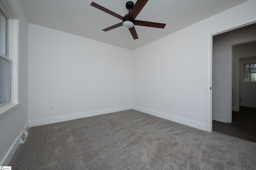
<instances>
[{"instance_id":1,"label":"inner doorway across the dark hall, leading to the far room","mask_svg":"<svg viewBox=\"0 0 256 170\"><path fill-rule=\"evenodd\" d=\"M256 40L232 45L232 111L256 106ZM246 73L246 71L249 71Z\"/></svg>"}]
</instances>

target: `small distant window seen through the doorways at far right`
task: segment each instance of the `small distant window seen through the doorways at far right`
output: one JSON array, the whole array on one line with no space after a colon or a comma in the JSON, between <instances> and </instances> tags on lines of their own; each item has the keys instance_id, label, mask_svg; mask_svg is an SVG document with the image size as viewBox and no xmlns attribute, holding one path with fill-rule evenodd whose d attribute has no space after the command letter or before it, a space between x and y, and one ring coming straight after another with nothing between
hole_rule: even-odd
<instances>
[{"instance_id":1,"label":"small distant window seen through the doorways at far right","mask_svg":"<svg viewBox=\"0 0 256 170\"><path fill-rule=\"evenodd\" d=\"M256 63L244 64L244 83L256 82Z\"/></svg>"}]
</instances>

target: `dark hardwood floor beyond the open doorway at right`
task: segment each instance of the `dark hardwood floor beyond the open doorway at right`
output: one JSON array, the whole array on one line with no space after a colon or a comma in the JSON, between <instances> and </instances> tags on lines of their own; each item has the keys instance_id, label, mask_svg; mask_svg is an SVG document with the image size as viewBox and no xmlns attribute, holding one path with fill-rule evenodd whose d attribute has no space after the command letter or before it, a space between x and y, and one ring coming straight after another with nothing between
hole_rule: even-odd
<instances>
[{"instance_id":1,"label":"dark hardwood floor beyond the open doorway at right","mask_svg":"<svg viewBox=\"0 0 256 170\"><path fill-rule=\"evenodd\" d=\"M232 123L212 121L212 130L256 142L256 108L240 106L239 112L232 111Z\"/></svg>"}]
</instances>

